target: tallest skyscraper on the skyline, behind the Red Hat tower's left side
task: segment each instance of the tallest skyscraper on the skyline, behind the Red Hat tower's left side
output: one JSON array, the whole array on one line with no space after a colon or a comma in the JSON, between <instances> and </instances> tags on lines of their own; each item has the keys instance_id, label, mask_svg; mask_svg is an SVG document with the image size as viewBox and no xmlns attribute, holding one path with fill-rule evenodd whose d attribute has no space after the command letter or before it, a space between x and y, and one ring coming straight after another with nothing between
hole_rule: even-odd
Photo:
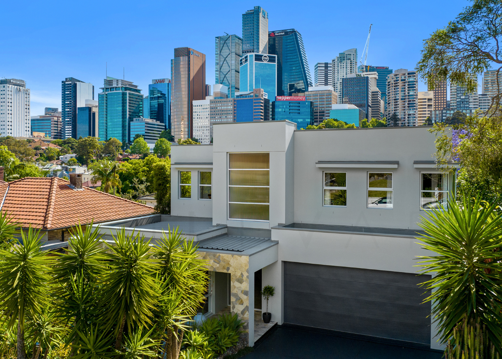
<instances>
[{"instance_id":1,"label":"tallest skyscraper on the skyline, behind the Red Hat tower's left side","mask_svg":"<svg viewBox=\"0 0 502 359\"><path fill-rule=\"evenodd\" d=\"M242 54L266 54L269 41L269 13L255 6L242 14Z\"/></svg>"}]
</instances>

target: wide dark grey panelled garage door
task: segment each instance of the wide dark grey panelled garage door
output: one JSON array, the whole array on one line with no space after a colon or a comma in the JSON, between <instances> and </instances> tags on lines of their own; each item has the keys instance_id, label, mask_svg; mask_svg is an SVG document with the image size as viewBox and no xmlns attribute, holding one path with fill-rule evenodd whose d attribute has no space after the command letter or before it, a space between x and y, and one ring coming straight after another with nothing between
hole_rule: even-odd
<instances>
[{"instance_id":1,"label":"wide dark grey panelled garage door","mask_svg":"<svg viewBox=\"0 0 502 359\"><path fill-rule=\"evenodd\" d=\"M284 262L284 321L430 344L430 276Z\"/></svg>"}]
</instances>

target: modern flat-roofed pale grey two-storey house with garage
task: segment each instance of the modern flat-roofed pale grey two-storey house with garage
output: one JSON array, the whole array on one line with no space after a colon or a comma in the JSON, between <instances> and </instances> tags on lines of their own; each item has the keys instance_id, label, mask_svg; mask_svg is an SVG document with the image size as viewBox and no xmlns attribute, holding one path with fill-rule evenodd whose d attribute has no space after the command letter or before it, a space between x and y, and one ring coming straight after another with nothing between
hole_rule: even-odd
<instances>
[{"instance_id":1,"label":"modern flat-roofed pale grey two-storey house with garage","mask_svg":"<svg viewBox=\"0 0 502 359\"><path fill-rule=\"evenodd\" d=\"M153 242L179 226L211 282L201 311L246 321L275 287L272 320L440 349L419 284L417 222L445 204L427 127L297 130L289 121L215 124L213 144L171 147L171 215L101 226ZM261 298L261 299L260 299Z\"/></svg>"}]
</instances>

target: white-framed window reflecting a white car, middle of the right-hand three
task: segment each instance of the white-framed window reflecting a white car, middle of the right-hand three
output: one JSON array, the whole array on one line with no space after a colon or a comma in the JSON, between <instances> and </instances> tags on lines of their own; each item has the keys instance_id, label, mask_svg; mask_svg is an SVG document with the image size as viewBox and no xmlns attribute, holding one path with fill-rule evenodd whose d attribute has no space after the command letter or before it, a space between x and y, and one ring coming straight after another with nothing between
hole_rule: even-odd
<instances>
[{"instance_id":1,"label":"white-framed window reflecting a white car, middle of the right-hand three","mask_svg":"<svg viewBox=\"0 0 502 359\"><path fill-rule=\"evenodd\" d=\"M393 208L393 173L368 172L367 207Z\"/></svg>"}]
</instances>

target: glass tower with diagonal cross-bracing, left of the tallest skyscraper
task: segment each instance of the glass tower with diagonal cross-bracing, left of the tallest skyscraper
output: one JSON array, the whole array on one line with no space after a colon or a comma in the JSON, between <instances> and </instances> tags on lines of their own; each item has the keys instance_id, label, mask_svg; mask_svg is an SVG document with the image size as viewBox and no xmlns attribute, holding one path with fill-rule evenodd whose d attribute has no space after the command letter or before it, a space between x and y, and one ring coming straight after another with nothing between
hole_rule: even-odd
<instances>
[{"instance_id":1,"label":"glass tower with diagonal cross-bracing, left of the tallest skyscraper","mask_svg":"<svg viewBox=\"0 0 502 359\"><path fill-rule=\"evenodd\" d=\"M240 91L239 60L242 57L242 39L237 35L216 36L215 56L216 83L225 85L228 88L228 97L233 98L235 93Z\"/></svg>"}]
</instances>

